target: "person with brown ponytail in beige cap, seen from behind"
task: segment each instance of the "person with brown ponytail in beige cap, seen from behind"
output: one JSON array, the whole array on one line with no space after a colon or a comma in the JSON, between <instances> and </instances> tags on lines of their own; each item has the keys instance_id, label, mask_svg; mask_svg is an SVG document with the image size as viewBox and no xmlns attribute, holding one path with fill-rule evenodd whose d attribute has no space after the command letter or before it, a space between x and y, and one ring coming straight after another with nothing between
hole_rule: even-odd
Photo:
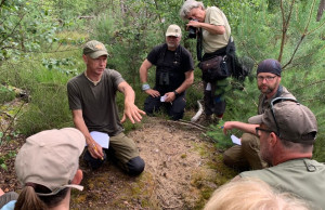
<instances>
[{"instance_id":1,"label":"person with brown ponytail in beige cap, seen from behind","mask_svg":"<svg viewBox=\"0 0 325 210\"><path fill-rule=\"evenodd\" d=\"M1 210L69 209L72 188L83 189L79 156L84 144L84 136L74 128L29 136L15 159L23 191Z\"/></svg>"}]
</instances>

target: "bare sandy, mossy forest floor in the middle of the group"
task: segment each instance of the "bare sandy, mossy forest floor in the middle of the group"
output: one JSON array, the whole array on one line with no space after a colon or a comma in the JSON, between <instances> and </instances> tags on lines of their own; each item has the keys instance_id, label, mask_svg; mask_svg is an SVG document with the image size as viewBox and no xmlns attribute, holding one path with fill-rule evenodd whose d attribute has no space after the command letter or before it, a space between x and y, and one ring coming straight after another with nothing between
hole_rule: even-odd
<instances>
[{"instance_id":1,"label":"bare sandy, mossy forest floor in the middle of the group","mask_svg":"<svg viewBox=\"0 0 325 210\"><path fill-rule=\"evenodd\" d=\"M145 117L128 136L136 142L145 161L136 178L107 161L92 171L80 159L82 192L73 191L72 209L202 209L211 193L236 173L222 163L222 155L204 132L191 123ZM14 156L24 143L16 136L1 146L8 155L0 169L0 187L21 191Z\"/></svg>"}]
</instances>

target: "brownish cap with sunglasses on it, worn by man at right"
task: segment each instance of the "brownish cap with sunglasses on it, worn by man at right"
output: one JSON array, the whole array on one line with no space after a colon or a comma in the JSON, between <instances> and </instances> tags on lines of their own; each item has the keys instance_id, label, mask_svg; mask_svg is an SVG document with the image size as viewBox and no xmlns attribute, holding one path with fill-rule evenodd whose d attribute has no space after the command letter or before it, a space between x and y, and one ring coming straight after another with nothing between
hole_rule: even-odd
<instances>
[{"instance_id":1,"label":"brownish cap with sunglasses on it, worn by man at right","mask_svg":"<svg viewBox=\"0 0 325 210\"><path fill-rule=\"evenodd\" d=\"M292 101L281 101L273 106L273 113L278 126L280 137L295 143L311 144L317 133L317 121L314 114L302 104ZM272 109L251 117L249 123L264 123L271 131L277 133L277 127Z\"/></svg>"}]
</instances>

